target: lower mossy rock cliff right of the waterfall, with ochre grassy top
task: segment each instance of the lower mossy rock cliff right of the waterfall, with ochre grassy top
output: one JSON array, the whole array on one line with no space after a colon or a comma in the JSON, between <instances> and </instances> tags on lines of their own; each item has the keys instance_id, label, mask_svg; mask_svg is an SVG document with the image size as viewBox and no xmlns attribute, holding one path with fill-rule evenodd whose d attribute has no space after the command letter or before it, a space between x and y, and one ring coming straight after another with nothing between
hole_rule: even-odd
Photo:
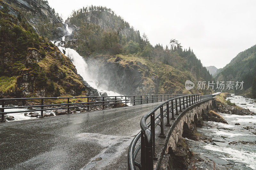
<instances>
[{"instance_id":1,"label":"lower mossy rock cliff right of the waterfall, with ochre grassy top","mask_svg":"<svg viewBox=\"0 0 256 170\"><path fill-rule=\"evenodd\" d=\"M192 77L189 72L175 70L169 65L138 56L99 54L88 57L86 62L92 79L98 80L95 83L98 87L124 95L203 92L196 88L190 91L185 89L185 81Z\"/></svg>"}]
</instances>

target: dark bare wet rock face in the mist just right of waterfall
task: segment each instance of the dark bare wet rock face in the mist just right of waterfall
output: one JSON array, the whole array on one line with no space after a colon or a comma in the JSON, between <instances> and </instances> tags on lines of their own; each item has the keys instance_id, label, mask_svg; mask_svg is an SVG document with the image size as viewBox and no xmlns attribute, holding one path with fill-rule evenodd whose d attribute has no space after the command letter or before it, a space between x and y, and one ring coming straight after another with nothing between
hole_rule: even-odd
<instances>
[{"instance_id":1,"label":"dark bare wet rock face in the mist just right of waterfall","mask_svg":"<svg viewBox=\"0 0 256 170\"><path fill-rule=\"evenodd\" d=\"M98 87L105 87L124 95L149 95L158 92L157 77L153 76L151 84L143 84L145 78L141 71L141 63L131 61L123 66L119 63L120 60L119 57L116 57L114 62L87 61L89 72L96 75L96 80L99 80ZM145 65L145 67L147 66Z\"/></svg>"}]
</instances>

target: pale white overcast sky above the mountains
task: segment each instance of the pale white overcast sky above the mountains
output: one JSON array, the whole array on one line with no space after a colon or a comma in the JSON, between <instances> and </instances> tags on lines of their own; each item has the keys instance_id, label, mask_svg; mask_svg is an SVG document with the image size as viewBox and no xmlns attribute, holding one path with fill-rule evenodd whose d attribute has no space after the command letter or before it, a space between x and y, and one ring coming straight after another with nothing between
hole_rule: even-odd
<instances>
[{"instance_id":1,"label":"pale white overcast sky above the mountains","mask_svg":"<svg viewBox=\"0 0 256 170\"><path fill-rule=\"evenodd\" d=\"M204 66L224 67L256 44L256 0L48 0L64 20L83 6L106 6L146 33L152 45L177 39Z\"/></svg>"}]
</instances>

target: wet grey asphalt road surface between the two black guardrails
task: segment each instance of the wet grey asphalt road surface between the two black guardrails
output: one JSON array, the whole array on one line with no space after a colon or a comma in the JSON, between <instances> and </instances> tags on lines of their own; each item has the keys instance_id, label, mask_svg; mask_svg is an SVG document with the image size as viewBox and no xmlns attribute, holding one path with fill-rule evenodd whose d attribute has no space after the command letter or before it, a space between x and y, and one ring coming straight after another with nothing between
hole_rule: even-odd
<instances>
[{"instance_id":1,"label":"wet grey asphalt road surface between the two black guardrails","mask_svg":"<svg viewBox=\"0 0 256 170\"><path fill-rule=\"evenodd\" d=\"M0 124L0 169L127 169L140 119L159 103Z\"/></svg>"}]
</instances>

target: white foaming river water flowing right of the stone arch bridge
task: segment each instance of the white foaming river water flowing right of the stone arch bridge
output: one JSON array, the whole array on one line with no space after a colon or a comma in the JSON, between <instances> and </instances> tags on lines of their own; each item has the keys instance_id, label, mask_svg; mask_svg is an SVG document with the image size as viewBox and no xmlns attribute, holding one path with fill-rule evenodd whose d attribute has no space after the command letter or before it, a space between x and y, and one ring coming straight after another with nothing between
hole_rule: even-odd
<instances>
[{"instance_id":1,"label":"white foaming river water flowing right of the stone arch bridge","mask_svg":"<svg viewBox=\"0 0 256 170\"><path fill-rule=\"evenodd\" d=\"M256 112L256 103L252 99L234 95L227 99L242 108ZM228 124L205 122L202 128L197 128L200 134L212 138L215 142L205 143L188 139L189 148L227 169L256 169L256 135L252 133L256 132L256 116L219 114ZM229 142L237 143L229 145Z\"/></svg>"}]
</instances>

